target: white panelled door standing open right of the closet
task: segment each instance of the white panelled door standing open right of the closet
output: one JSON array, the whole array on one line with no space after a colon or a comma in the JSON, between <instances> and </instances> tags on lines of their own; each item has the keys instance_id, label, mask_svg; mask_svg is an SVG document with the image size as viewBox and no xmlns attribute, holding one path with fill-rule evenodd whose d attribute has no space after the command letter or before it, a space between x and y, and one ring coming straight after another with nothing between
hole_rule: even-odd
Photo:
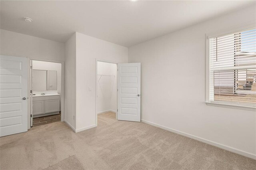
<instances>
[{"instance_id":1,"label":"white panelled door standing open right of the closet","mask_svg":"<svg viewBox=\"0 0 256 170\"><path fill-rule=\"evenodd\" d=\"M118 64L117 119L140 122L140 63Z\"/></svg>"}]
</instances>

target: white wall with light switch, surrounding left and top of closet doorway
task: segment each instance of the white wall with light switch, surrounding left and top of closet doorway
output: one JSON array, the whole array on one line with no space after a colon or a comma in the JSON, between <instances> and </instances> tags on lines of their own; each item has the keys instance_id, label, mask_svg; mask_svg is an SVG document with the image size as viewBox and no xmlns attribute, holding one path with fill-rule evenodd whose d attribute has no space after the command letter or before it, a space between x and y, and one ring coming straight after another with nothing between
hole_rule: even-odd
<instances>
[{"instance_id":1,"label":"white wall with light switch, surrounding left and top of closet doorway","mask_svg":"<svg viewBox=\"0 0 256 170\"><path fill-rule=\"evenodd\" d=\"M76 33L76 130L96 124L96 59L116 63L128 61L128 48ZM89 87L91 91L89 91Z\"/></svg>"}]
</instances>

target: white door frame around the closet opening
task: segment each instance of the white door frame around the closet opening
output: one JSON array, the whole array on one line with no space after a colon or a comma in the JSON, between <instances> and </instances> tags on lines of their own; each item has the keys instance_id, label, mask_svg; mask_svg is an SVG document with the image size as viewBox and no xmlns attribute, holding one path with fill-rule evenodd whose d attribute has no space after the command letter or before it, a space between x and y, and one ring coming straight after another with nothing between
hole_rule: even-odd
<instances>
[{"instance_id":1,"label":"white door frame around the closet opening","mask_svg":"<svg viewBox=\"0 0 256 170\"><path fill-rule=\"evenodd\" d=\"M109 60L104 60L104 59L95 59L95 125L98 126L98 108L97 108L97 103L98 103L98 61L100 62L104 62L104 63L111 63L111 64L116 64L116 87L118 84L118 79L117 79L117 75L118 75L118 63L115 61L109 61ZM118 95L116 93L116 99ZM117 108L118 108L118 102L116 100L116 120L117 120Z\"/></svg>"}]
</instances>

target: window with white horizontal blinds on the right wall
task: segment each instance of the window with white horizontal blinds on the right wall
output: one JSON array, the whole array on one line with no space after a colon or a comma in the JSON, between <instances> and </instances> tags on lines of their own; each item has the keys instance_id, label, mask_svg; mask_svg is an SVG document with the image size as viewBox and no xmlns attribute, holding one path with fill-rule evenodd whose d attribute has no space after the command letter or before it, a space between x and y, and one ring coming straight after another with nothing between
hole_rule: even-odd
<instances>
[{"instance_id":1,"label":"window with white horizontal blinds on the right wall","mask_svg":"<svg viewBox=\"0 0 256 170\"><path fill-rule=\"evenodd\" d=\"M256 28L209 42L210 103L256 107Z\"/></svg>"}]
</instances>

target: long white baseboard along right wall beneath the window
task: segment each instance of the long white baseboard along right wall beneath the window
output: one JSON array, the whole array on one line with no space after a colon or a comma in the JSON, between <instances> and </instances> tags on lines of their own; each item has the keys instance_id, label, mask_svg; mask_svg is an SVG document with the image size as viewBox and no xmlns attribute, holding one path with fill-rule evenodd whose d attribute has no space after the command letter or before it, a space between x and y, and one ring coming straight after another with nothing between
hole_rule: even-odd
<instances>
[{"instance_id":1,"label":"long white baseboard along right wall beneath the window","mask_svg":"<svg viewBox=\"0 0 256 170\"><path fill-rule=\"evenodd\" d=\"M195 139L195 140L199 140L201 142L204 142L204 143L207 143L207 144L210 144L210 145L213 145L213 146L216 146L218 148L222 148L222 149L225 149L225 150L228 150L230 152L234 152L236 154L240 154L240 155L243 155L243 156L247 156L249 158L252 158L252 159L256 159L256 154L252 154L250 152L245 152L243 150L240 150L240 149L236 149L236 148L233 148L233 147L230 147L230 146L227 146L227 145L224 145L224 144L220 144L220 143L217 143L217 142L213 142L211 140L207 140L207 139L204 139L204 138L200 138L198 136L194 136L192 134L188 134L188 133L185 133L185 132L181 132L179 130L175 130L175 129L172 129L172 128L168 128L168 127L164 127L162 125L158 125L156 123L152 123L152 122L149 122L149 121L145 121L143 119L141 119L141 122L143 123L146 123L146 124L149 124L149 125L152 125L154 127L159 127L159 128L162 128L164 130L168 130L170 132L174 132L174 133L177 133L177 134L181 134L183 136L187 136L189 138L192 138L192 139Z\"/></svg>"}]
</instances>

